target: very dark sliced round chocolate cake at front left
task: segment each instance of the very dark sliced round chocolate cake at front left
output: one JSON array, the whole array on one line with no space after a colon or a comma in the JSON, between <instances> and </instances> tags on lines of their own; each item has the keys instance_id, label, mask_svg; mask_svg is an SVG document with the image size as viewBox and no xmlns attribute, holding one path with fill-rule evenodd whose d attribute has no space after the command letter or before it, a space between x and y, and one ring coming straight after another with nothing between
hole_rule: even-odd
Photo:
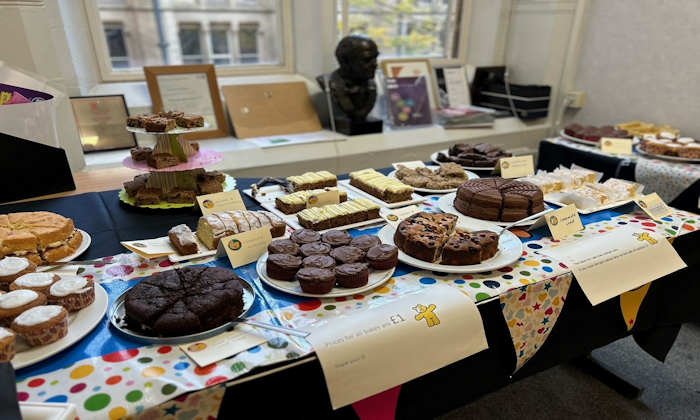
<instances>
[{"instance_id":1,"label":"very dark sliced round chocolate cake at front left","mask_svg":"<svg viewBox=\"0 0 700 420\"><path fill-rule=\"evenodd\" d=\"M243 286L225 268L178 268L142 280L127 292L124 307L132 330L163 337L194 334L239 316Z\"/></svg>"}]
</instances>

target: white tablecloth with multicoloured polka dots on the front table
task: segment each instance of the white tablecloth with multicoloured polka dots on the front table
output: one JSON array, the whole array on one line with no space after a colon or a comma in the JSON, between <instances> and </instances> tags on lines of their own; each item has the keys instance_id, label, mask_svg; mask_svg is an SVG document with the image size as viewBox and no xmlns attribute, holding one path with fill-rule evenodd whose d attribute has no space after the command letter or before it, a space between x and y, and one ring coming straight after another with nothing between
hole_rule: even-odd
<instances>
[{"instance_id":1,"label":"white tablecloth with multicoloured polka dots on the front table","mask_svg":"<svg viewBox=\"0 0 700 420\"><path fill-rule=\"evenodd\" d=\"M565 239L576 240L588 235L604 235L619 226L635 223L650 231L660 232L666 236L677 236L694 231L697 225L695 215L676 212L660 222L654 222L640 213L621 215L611 220L600 221L586 226L581 233ZM265 301L273 302L253 316L254 319L270 321L271 318L280 322L304 328L305 326L321 323L335 316L347 316L353 311L366 310L381 305L404 293L415 292L420 288L432 287L444 283L462 290L474 301L499 297L513 290L515 293L537 292L548 283L564 282L570 284L568 268L559 262L541 255L538 251L546 247L556 247L560 244L549 238L527 242L520 260L499 270L468 275L444 274L430 271L406 272L406 267L384 285L369 292L354 296L335 299L290 299L288 296L275 294L265 290ZM153 271L170 268L165 259L144 261L133 254L121 254L107 257L105 261L116 264L101 265L85 268L81 275L90 276L97 282L113 282L148 275ZM201 261L199 261L201 262ZM216 264L226 264L216 261ZM254 268L244 267L239 273L249 280L256 282ZM568 277L567 277L568 276ZM566 279L569 280L566 280ZM555 280L557 279L557 280ZM531 289L536 285L537 290ZM560 296L565 296L563 287L558 287ZM567 289L568 290L568 289ZM111 296L113 299L115 296ZM564 299L557 304L563 305ZM530 303L528 301L528 303ZM532 303L535 305L535 303ZM551 302L550 306L555 305ZM510 308L505 305L504 308ZM560 310L561 308L557 308ZM552 309L555 311L555 309ZM545 308L545 312L547 309ZM557 312L558 313L558 312ZM517 318L517 311L511 317L506 315L506 321ZM523 318L524 319L524 318ZM536 320L537 318L532 318ZM542 322L539 321L528 322ZM548 320L551 328L556 319ZM206 367L196 366L178 347L175 346L144 346L126 349L110 354L79 360L65 368L47 373L37 374L18 382L18 396L21 401L37 402L71 402L74 403L81 419L88 418L120 418L125 416L142 416L154 408L176 407L177 413L188 412L177 405L169 405L171 401L185 393L213 387L217 384L236 378L254 367L292 360L310 354L313 350L304 340L284 335L266 332L268 341L253 347L234 357L222 360ZM530 334L524 359L531 357L541 346L546 336L532 337L532 330L523 333L513 332L514 346L522 342ZM535 347L535 344L538 347ZM82 342L81 345L91 345L99 349L99 345ZM528 344L530 346L530 344ZM99 351L99 350L97 350ZM519 349L516 349L519 351ZM524 363L524 361L523 361ZM154 411L157 412L157 409ZM194 418L194 417L193 417Z\"/></svg>"}]
</instances>

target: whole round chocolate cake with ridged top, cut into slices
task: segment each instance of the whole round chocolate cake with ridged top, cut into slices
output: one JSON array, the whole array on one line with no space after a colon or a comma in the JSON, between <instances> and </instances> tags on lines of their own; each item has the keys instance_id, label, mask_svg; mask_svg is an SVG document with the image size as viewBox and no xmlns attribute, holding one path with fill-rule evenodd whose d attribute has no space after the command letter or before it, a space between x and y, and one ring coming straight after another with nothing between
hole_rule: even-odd
<instances>
[{"instance_id":1,"label":"whole round chocolate cake with ridged top, cut into slices","mask_svg":"<svg viewBox=\"0 0 700 420\"><path fill-rule=\"evenodd\" d=\"M542 190L529 182L479 178L459 187L454 206L477 219L514 222L543 211L543 198Z\"/></svg>"}]
</instances>

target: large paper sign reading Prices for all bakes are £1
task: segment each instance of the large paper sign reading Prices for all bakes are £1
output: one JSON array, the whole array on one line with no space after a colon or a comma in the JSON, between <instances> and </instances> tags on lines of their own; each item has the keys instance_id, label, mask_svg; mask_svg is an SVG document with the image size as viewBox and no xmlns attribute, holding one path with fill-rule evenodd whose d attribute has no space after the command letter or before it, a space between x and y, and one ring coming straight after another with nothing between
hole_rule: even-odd
<instances>
[{"instance_id":1,"label":"large paper sign reading Prices for all bakes are \u00a31","mask_svg":"<svg viewBox=\"0 0 700 420\"><path fill-rule=\"evenodd\" d=\"M352 319L329 319L307 340L321 361L333 409L488 348L476 304L441 284Z\"/></svg>"}]
</instances>

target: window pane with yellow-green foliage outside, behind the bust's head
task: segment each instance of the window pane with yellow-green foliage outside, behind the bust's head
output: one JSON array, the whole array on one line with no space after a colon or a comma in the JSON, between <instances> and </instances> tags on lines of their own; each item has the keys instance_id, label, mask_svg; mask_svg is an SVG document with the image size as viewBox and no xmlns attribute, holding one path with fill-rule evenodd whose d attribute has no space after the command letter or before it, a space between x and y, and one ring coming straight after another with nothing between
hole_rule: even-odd
<instances>
[{"instance_id":1,"label":"window pane with yellow-green foliage outside, behind the bust's head","mask_svg":"<svg viewBox=\"0 0 700 420\"><path fill-rule=\"evenodd\" d=\"M372 38L382 57L459 58L465 0L338 0L340 37Z\"/></svg>"}]
</instances>

